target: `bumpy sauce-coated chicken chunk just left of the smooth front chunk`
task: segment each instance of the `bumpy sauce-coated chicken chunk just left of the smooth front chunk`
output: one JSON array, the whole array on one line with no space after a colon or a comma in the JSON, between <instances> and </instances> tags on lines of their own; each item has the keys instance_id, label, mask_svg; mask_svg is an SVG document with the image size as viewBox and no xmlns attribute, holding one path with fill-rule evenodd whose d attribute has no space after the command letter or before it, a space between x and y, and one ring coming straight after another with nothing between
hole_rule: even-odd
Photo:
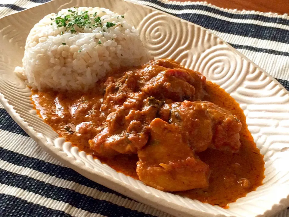
<instances>
[{"instance_id":1,"label":"bumpy sauce-coated chicken chunk just left of the smooth front chunk","mask_svg":"<svg viewBox=\"0 0 289 217\"><path fill-rule=\"evenodd\" d=\"M126 109L124 105L107 116L103 131L89 140L96 155L136 154L148 142L149 124L162 102L148 97L143 104L140 110Z\"/></svg>"}]
</instances>

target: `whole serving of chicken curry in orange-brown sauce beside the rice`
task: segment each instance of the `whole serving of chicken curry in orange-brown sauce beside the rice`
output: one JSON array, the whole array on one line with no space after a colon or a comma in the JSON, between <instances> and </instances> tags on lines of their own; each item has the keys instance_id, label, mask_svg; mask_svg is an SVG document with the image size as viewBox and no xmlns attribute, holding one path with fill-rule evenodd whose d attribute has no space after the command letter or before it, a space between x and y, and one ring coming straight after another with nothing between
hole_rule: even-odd
<instances>
[{"instance_id":1,"label":"whole serving of chicken curry in orange-brown sauce beside the rice","mask_svg":"<svg viewBox=\"0 0 289 217\"><path fill-rule=\"evenodd\" d=\"M32 100L66 140L159 190L226 207L262 184L263 156L238 103L175 61L113 71L85 93L47 90Z\"/></svg>"}]
</instances>

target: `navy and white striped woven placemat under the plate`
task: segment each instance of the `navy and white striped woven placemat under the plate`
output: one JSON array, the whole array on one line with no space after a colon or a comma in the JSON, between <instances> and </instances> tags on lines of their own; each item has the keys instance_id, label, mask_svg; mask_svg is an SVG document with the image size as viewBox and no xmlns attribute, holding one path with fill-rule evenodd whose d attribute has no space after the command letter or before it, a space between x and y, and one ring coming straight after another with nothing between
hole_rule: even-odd
<instances>
[{"instance_id":1,"label":"navy and white striped woven placemat under the plate","mask_svg":"<svg viewBox=\"0 0 289 217\"><path fill-rule=\"evenodd\" d=\"M206 2L134 0L203 26L289 90L287 14L237 11ZM0 17L48 2L0 0ZM1 20L0 20L1 22ZM0 217L171 215L79 175L43 151L0 105ZM275 217L289 217L285 209Z\"/></svg>"}]
</instances>

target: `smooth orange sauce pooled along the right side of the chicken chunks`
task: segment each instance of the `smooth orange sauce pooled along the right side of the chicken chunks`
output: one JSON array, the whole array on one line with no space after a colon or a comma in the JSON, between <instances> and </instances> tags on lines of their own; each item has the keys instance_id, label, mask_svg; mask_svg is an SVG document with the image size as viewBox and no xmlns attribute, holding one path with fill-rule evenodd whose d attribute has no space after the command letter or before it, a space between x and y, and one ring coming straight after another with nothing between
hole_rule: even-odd
<instances>
[{"instance_id":1,"label":"smooth orange sauce pooled along the right side of the chicken chunks","mask_svg":"<svg viewBox=\"0 0 289 217\"><path fill-rule=\"evenodd\" d=\"M210 186L204 190L188 190L180 195L202 202L228 208L227 204L245 197L250 191L262 185L264 179L264 161L246 124L246 117L239 104L218 85L207 81L209 95L206 100L227 108L242 123L240 132L241 147L237 153L222 153L207 149L198 153L202 161L210 165L212 171Z\"/></svg>"}]
</instances>

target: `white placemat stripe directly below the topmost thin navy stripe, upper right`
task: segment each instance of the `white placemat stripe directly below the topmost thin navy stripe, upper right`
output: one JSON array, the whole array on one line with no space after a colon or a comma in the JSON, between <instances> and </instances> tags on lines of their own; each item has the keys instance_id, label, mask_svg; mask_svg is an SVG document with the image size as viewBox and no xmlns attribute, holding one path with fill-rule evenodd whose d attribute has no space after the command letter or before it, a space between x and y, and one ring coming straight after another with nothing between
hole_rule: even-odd
<instances>
[{"instance_id":1,"label":"white placemat stripe directly below the topmost thin navy stripe, upper right","mask_svg":"<svg viewBox=\"0 0 289 217\"><path fill-rule=\"evenodd\" d=\"M183 9L183 10L174 10L171 8L164 8L161 7L157 4L154 3L148 3L146 1L137 1L140 4L144 4L144 5L149 5L151 7L157 8L159 10L165 11L167 13L173 13L173 14L201 14L201 15L207 15L210 17L215 17L218 18L220 20L226 20L228 22L232 22L232 23L242 23L242 24L255 24L258 26L265 26L265 27L276 27L276 28L280 28L280 29L284 29L284 30L289 30L289 26L288 25L284 25L284 24L277 24L277 23L271 23L271 22L263 22L260 20L252 20L252 19L235 19L235 18L230 18L230 17L225 17L219 14L214 14L208 11L203 11L203 10L196 10L196 9Z\"/></svg>"}]
</instances>

